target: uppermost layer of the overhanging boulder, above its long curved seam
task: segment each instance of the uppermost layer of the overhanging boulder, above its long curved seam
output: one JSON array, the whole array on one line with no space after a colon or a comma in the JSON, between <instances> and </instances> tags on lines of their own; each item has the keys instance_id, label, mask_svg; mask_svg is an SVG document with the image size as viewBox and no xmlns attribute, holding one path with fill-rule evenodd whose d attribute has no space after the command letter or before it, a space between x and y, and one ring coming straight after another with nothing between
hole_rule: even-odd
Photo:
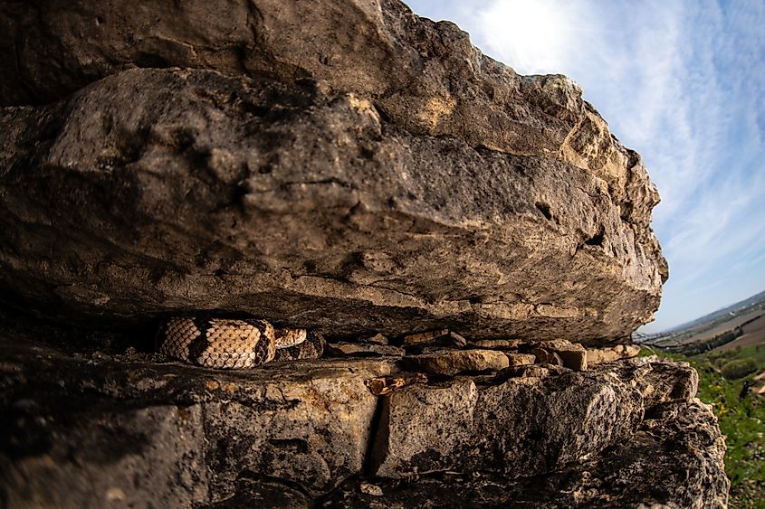
<instances>
[{"instance_id":1,"label":"uppermost layer of the overhanging boulder, above its long curved seam","mask_svg":"<svg viewBox=\"0 0 765 509\"><path fill-rule=\"evenodd\" d=\"M323 80L372 99L413 133L587 168L666 273L647 230L655 187L579 87L559 75L519 76L474 48L456 25L419 18L398 0L163 0L139 9L114 0L46 0L6 3L0 24L7 29L0 49L10 57L0 67L4 104L62 99L133 66Z\"/></svg>"}]
</instances>

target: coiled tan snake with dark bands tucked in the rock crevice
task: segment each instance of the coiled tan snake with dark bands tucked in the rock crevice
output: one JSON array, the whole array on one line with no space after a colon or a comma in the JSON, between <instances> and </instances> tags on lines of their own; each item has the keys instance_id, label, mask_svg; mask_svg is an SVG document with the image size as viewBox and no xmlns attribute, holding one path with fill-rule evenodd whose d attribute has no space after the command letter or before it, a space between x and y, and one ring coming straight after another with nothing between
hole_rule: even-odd
<instances>
[{"instance_id":1,"label":"coiled tan snake with dark bands tucked in the rock crevice","mask_svg":"<svg viewBox=\"0 0 765 509\"><path fill-rule=\"evenodd\" d=\"M324 338L305 329L275 329L265 320L176 317L159 335L159 352L186 363L243 369L271 361L315 359Z\"/></svg>"}]
</instances>

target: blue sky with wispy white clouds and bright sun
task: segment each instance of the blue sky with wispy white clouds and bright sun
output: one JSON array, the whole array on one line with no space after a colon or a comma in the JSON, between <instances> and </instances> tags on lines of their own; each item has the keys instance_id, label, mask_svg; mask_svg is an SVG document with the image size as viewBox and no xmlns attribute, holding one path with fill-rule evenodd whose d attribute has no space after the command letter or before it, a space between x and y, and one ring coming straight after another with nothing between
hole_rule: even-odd
<instances>
[{"instance_id":1,"label":"blue sky with wispy white clouds and bright sun","mask_svg":"<svg viewBox=\"0 0 765 509\"><path fill-rule=\"evenodd\" d=\"M670 278L645 333L765 290L765 2L406 0L521 74L566 74L643 156Z\"/></svg>"}]
</instances>

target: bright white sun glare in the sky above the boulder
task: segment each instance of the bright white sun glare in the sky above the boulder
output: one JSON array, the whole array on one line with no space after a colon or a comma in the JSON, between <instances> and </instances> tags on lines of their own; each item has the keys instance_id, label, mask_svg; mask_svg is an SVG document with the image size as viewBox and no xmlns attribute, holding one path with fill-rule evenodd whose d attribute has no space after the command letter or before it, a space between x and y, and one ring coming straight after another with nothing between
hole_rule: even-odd
<instances>
[{"instance_id":1,"label":"bright white sun glare in the sky above the boulder","mask_svg":"<svg viewBox=\"0 0 765 509\"><path fill-rule=\"evenodd\" d=\"M497 0L479 14L489 52L522 74L561 72L572 41L571 3Z\"/></svg>"}]
</instances>

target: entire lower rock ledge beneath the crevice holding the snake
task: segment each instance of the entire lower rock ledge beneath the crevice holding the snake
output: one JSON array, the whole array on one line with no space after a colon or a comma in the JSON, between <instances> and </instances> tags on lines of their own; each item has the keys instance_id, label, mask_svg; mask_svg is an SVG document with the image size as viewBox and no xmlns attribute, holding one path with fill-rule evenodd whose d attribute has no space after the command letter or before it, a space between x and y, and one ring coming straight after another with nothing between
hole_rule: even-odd
<instances>
[{"instance_id":1,"label":"entire lower rock ledge beneath the crevice holding the snake","mask_svg":"<svg viewBox=\"0 0 765 509\"><path fill-rule=\"evenodd\" d=\"M0 332L10 507L726 500L724 440L682 363L427 382L389 358L221 372L29 343L41 334ZM374 395L368 382L386 377L417 382Z\"/></svg>"}]
</instances>

